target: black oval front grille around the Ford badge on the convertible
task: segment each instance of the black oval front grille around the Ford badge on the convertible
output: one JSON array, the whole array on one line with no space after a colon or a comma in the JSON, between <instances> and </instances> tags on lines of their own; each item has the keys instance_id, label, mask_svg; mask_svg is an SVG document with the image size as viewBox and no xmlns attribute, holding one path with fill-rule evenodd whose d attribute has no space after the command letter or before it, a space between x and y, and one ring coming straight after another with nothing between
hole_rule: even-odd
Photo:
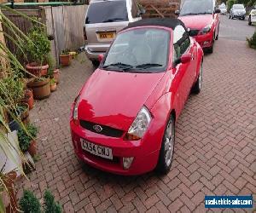
<instances>
[{"instance_id":1,"label":"black oval front grille around the Ford badge on the convertible","mask_svg":"<svg viewBox=\"0 0 256 213\"><path fill-rule=\"evenodd\" d=\"M106 136L110 136L110 137L121 137L122 135L124 135L123 130L114 129L112 127L105 126L105 125L95 124L95 123L92 123L89 121L80 120L80 125L85 130L90 130L91 132L95 132L95 133L101 134L101 135L106 135ZM100 125L102 127L102 130L96 131L94 129L95 125Z\"/></svg>"}]
</instances>

